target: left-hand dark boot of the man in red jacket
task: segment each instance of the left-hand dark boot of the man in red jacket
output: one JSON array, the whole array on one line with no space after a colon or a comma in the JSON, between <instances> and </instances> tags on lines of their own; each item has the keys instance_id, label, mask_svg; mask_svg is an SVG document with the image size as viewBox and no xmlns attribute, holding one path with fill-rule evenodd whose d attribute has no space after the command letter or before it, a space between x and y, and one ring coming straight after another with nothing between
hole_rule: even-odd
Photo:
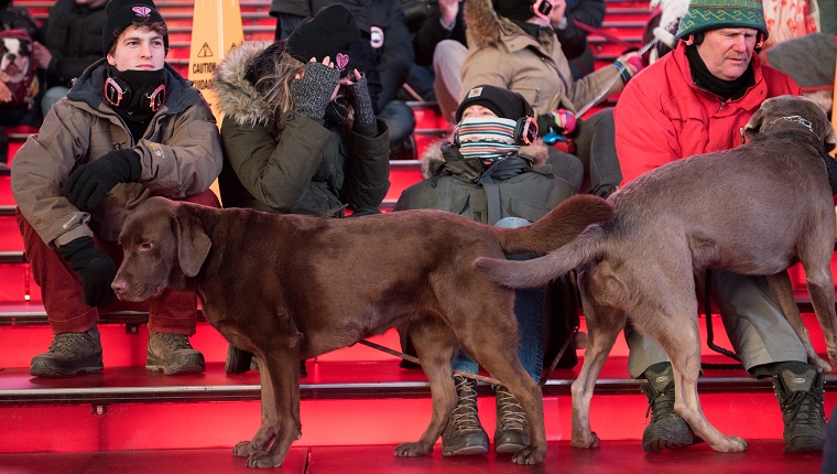
<instances>
[{"instance_id":1,"label":"left-hand dark boot of the man in red jacket","mask_svg":"<svg viewBox=\"0 0 837 474\"><path fill-rule=\"evenodd\" d=\"M698 442L686 421L674 411L674 374L671 364L662 371L646 369L646 380L640 389L648 397L651 422L642 432L642 450L645 452L688 446ZM648 419L645 412L645 419Z\"/></svg>"}]
</instances>

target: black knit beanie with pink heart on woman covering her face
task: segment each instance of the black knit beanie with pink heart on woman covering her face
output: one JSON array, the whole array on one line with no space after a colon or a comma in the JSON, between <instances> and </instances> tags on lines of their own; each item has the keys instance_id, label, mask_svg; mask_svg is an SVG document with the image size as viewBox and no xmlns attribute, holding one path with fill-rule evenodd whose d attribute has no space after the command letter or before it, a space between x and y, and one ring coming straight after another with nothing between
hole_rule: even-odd
<instances>
[{"instance_id":1,"label":"black knit beanie with pink heart on woman covering her face","mask_svg":"<svg viewBox=\"0 0 837 474\"><path fill-rule=\"evenodd\" d=\"M360 30L351 12L341 4L333 4L320 9L315 17L303 20L287 37L285 51L303 63L312 57L323 61L329 56L337 68L346 73L349 46L359 39ZM345 57L338 58L338 54Z\"/></svg>"}]
</instances>

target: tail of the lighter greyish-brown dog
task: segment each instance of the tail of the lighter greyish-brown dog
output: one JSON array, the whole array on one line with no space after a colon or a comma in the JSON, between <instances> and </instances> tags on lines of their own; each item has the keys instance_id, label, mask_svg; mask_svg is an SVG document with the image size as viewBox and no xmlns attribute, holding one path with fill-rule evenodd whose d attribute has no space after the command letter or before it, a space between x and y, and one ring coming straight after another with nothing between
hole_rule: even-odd
<instances>
[{"instance_id":1,"label":"tail of the lighter greyish-brown dog","mask_svg":"<svg viewBox=\"0 0 837 474\"><path fill-rule=\"evenodd\" d=\"M542 287L583 263L601 258L606 235L601 225L593 225L575 240L543 257L532 260L479 257L475 265L504 287Z\"/></svg>"}]
</instances>

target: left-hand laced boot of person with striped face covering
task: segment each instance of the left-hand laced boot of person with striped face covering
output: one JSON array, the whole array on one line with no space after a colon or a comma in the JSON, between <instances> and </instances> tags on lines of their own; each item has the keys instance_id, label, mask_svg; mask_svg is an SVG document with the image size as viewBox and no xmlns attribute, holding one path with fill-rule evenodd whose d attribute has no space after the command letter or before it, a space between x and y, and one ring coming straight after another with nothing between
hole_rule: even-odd
<instances>
[{"instance_id":1,"label":"left-hand laced boot of person with striped face covering","mask_svg":"<svg viewBox=\"0 0 837 474\"><path fill-rule=\"evenodd\" d=\"M488 433L477 413L477 380L454 376L459 399L442 433L442 454L459 456L488 453Z\"/></svg>"}]
</instances>

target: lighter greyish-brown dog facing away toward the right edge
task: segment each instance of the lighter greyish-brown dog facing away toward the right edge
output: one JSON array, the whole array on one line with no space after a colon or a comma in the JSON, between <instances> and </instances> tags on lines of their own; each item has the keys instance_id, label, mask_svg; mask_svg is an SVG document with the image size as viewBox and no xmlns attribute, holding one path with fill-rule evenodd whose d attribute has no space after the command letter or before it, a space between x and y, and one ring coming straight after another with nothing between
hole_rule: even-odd
<instances>
[{"instance_id":1,"label":"lighter greyish-brown dog facing away toward the right edge","mask_svg":"<svg viewBox=\"0 0 837 474\"><path fill-rule=\"evenodd\" d=\"M616 215L557 251L534 260L480 258L477 266L510 287L537 286L585 265L579 274L589 340L573 384L573 445L597 446L589 409L596 378L630 317L672 362L676 412L717 451L742 451L700 410L700 340L694 272L721 268L765 274L812 363L815 353L795 304L787 267L801 261L808 293L837 364L837 319L829 261L835 213L824 150L837 142L813 101L765 100L739 148L668 163L628 183L610 201ZM756 134L758 132L758 134Z\"/></svg>"}]
</instances>

